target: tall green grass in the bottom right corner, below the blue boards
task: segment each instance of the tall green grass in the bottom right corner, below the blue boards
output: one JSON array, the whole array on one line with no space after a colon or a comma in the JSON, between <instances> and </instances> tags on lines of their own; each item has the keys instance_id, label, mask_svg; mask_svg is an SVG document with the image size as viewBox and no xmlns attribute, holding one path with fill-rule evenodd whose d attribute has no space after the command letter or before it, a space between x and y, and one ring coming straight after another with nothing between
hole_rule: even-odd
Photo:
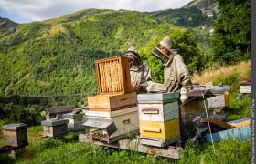
<instances>
[{"instance_id":1,"label":"tall green grass in the bottom right corner, below the blue boards","mask_svg":"<svg viewBox=\"0 0 256 164\"><path fill-rule=\"evenodd\" d=\"M214 152L211 144L201 145L197 149L187 144L183 157L178 163L251 163L251 140L223 140L218 144L215 143L215 149Z\"/></svg>"}]
</instances>

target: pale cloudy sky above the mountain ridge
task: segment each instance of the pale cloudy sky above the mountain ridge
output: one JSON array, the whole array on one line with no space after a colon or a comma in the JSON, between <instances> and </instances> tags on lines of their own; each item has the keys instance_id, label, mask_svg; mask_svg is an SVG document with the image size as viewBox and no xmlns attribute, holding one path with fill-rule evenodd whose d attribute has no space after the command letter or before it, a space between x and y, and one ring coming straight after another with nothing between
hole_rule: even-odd
<instances>
[{"instance_id":1,"label":"pale cloudy sky above the mountain ridge","mask_svg":"<svg viewBox=\"0 0 256 164\"><path fill-rule=\"evenodd\" d=\"M0 0L0 17L17 23L42 21L86 8L156 11L180 8L192 0Z\"/></svg>"}]
</instances>

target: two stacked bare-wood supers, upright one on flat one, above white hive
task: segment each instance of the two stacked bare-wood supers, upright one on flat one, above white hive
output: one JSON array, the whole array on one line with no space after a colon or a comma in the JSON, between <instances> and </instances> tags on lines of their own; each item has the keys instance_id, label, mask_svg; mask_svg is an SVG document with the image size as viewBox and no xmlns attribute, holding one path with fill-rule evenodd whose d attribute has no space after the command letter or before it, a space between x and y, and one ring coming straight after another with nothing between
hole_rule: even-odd
<instances>
[{"instance_id":1,"label":"two stacked bare-wood supers, upright one on flat one, above white hive","mask_svg":"<svg viewBox=\"0 0 256 164\"><path fill-rule=\"evenodd\" d=\"M136 106L128 58L104 58L96 60L95 66L99 95L88 97L89 110L113 111Z\"/></svg>"}]
</instances>

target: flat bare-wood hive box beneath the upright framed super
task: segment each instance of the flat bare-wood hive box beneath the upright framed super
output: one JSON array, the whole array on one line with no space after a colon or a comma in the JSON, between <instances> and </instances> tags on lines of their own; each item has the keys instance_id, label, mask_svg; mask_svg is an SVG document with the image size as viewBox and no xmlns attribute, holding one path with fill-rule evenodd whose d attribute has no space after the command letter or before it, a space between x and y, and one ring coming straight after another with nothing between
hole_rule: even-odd
<instances>
[{"instance_id":1,"label":"flat bare-wood hive box beneath the upright framed super","mask_svg":"<svg viewBox=\"0 0 256 164\"><path fill-rule=\"evenodd\" d=\"M113 111L137 105L137 94L131 92L123 95L97 95L88 97L88 109L99 111Z\"/></svg>"}]
</instances>

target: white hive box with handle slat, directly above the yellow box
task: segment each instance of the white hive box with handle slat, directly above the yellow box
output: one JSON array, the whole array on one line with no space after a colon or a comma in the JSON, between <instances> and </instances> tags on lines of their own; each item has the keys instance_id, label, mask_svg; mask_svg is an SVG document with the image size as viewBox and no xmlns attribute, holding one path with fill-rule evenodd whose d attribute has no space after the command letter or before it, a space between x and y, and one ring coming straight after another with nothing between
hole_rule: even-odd
<instances>
[{"instance_id":1,"label":"white hive box with handle slat, directly above the yellow box","mask_svg":"<svg viewBox=\"0 0 256 164\"><path fill-rule=\"evenodd\" d=\"M158 104L138 104L139 118L144 121L165 122L179 118L178 101Z\"/></svg>"}]
</instances>

